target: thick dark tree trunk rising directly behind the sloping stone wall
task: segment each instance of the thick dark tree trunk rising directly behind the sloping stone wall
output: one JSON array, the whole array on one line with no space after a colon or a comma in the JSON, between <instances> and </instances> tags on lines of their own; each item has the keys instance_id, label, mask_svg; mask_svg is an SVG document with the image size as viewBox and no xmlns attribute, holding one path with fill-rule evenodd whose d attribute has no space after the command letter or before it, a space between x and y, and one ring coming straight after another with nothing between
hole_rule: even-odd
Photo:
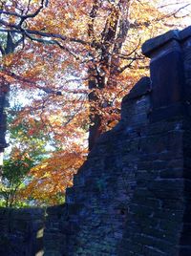
<instances>
[{"instance_id":1,"label":"thick dark tree trunk rising directly behind the sloping stone wall","mask_svg":"<svg viewBox=\"0 0 191 256\"><path fill-rule=\"evenodd\" d=\"M118 6L112 6L103 31L101 32L101 40L97 42L94 32L94 20L98 10L98 2L99 1L95 0L90 13L91 22L89 24L89 36L96 42L95 48L98 48L96 50L101 52L99 59L95 58L96 61L92 63L94 68L91 67L89 69L89 150L93 148L96 140L103 132L103 117L100 114L102 111L97 111L97 106L98 109L103 108L103 106L96 93L107 86L114 85L114 79L119 66L119 53L121 52L122 44L125 41L129 29L126 26L128 24L128 12L131 0L121 0ZM97 47L99 44L100 46ZM107 103L108 102L106 102L106 105Z\"/></svg>"}]
</instances>

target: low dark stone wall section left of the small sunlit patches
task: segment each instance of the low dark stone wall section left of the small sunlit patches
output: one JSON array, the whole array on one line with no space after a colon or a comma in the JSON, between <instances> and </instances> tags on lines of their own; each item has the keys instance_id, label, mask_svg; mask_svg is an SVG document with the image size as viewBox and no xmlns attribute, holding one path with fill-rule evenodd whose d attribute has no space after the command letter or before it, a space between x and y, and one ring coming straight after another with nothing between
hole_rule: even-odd
<instances>
[{"instance_id":1,"label":"low dark stone wall section left of the small sunlit patches","mask_svg":"<svg viewBox=\"0 0 191 256\"><path fill-rule=\"evenodd\" d=\"M44 210L0 208L0 255L43 255Z\"/></svg>"}]
</instances>

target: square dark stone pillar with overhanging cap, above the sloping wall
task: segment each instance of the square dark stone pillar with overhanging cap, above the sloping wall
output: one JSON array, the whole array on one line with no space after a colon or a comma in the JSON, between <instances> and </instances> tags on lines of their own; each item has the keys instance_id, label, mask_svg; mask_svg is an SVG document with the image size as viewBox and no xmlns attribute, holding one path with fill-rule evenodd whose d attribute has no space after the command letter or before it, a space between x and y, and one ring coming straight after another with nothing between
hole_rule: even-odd
<instances>
[{"instance_id":1,"label":"square dark stone pillar with overhanging cap, above the sloping wall","mask_svg":"<svg viewBox=\"0 0 191 256\"><path fill-rule=\"evenodd\" d=\"M142 52L151 58L152 122L181 116L185 113L183 102L184 74L179 31L170 31L148 40Z\"/></svg>"}]
</instances>

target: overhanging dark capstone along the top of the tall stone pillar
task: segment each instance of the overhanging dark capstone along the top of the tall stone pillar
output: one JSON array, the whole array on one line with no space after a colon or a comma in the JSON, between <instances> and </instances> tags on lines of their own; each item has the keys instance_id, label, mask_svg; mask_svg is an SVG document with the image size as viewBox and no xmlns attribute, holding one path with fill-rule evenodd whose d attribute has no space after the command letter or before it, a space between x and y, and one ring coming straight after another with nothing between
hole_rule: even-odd
<instances>
[{"instance_id":1,"label":"overhanging dark capstone along the top of the tall stone pillar","mask_svg":"<svg viewBox=\"0 0 191 256\"><path fill-rule=\"evenodd\" d=\"M191 26L187 27L183 31L173 30L173 31L165 32L162 35L159 35L155 38L147 40L142 45L142 53L145 56L149 57L151 53L158 50L159 47L165 45L169 41L172 41L172 40L183 41L188 37L191 37Z\"/></svg>"}]
</instances>

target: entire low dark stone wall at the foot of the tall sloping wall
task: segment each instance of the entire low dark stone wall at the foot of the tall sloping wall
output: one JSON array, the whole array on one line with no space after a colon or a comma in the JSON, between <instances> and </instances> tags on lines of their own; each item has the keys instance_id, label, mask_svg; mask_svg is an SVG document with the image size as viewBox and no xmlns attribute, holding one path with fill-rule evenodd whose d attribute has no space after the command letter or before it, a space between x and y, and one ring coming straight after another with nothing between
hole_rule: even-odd
<instances>
[{"instance_id":1,"label":"entire low dark stone wall at the foot of the tall sloping wall","mask_svg":"<svg viewBox=\"0 0 191 256\"><path fill-rule=\"evenodd\" d=\"M62 255L66 247L66 235L61 229L64 210L65 205L46 209L0 207L0 255L42 256L44 244L48 255Z\"/></svg>"}]
</instances>

